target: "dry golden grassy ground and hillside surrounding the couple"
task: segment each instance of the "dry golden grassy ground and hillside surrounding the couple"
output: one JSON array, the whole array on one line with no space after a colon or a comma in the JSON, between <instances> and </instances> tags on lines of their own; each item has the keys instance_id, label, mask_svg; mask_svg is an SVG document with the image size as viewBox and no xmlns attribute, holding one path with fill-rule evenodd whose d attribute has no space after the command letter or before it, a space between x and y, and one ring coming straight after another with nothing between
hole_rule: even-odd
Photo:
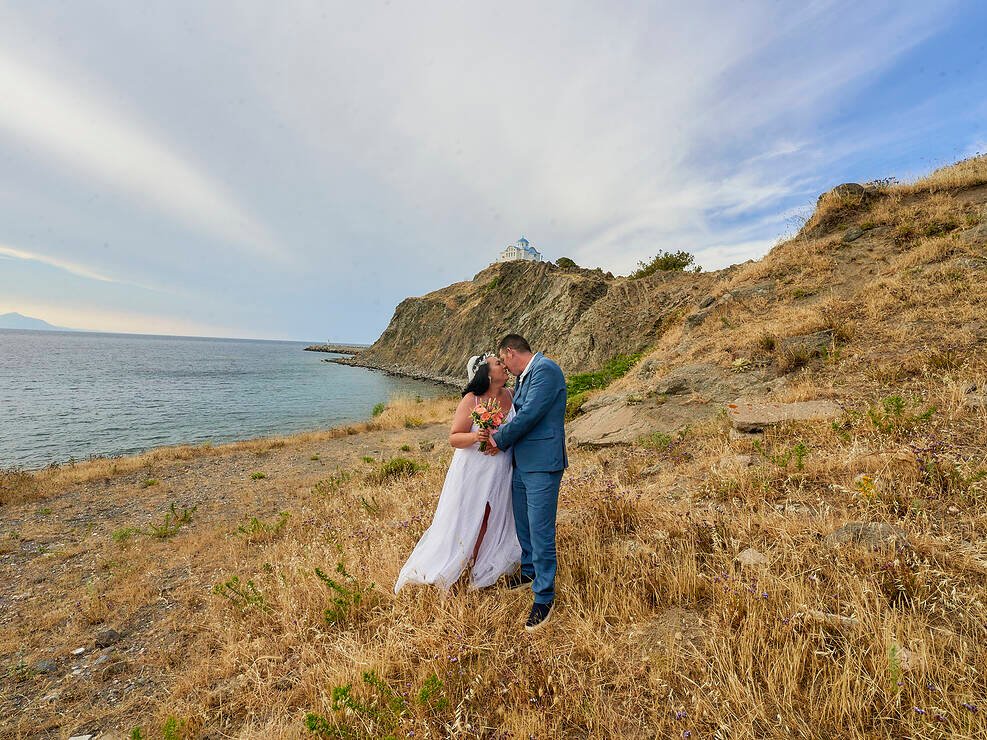
<instances>
[{"instance_id":1,"label":"dry golden grassy ground and hillside surrounding the couple","mask_svg":"<svg viewBox=\"0 0 987 740\"><path fill-rule=\"evenodd\" d=\"M587 381L576 424L620 406L642 433L572 451L560 609L535 636L523 593L391 593L452 401L8 474L3 734L987 736L985 183L978 160L827 195L626 375ZM735 383L845 413L738 435ZM663 431L666 409L695 413ZM172 503L192 513L168 529Z\"/></svg>"}]
</instances>

